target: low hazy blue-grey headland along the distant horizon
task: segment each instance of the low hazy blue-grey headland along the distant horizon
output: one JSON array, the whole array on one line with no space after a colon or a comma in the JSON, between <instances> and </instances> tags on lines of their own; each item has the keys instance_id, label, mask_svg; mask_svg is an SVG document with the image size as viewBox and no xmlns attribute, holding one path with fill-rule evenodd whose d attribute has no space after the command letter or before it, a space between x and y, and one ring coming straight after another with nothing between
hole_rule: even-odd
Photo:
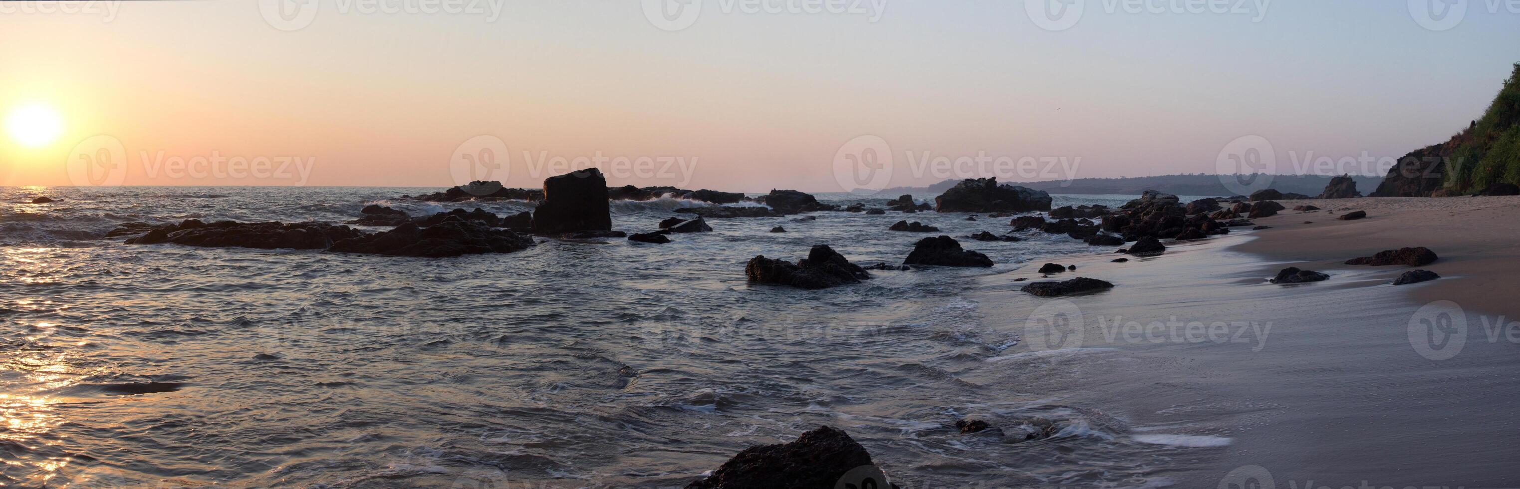
<instances>
[{"instance_id":1,"label":"low hazy blue-grey headland along the distant horizon","mask_svg":"<svg viewBox=\"0 0 1520 489\"><path fill-rule=\"evenodd\" d=\"M1257 176L1265 178L1265 175ZM1283 193L1301 193L1307 196L1318 196L1325 190L1333 176L1322 175L1272 175L1271 188L1277 188ZM1362 191L1370 191L1377 188L1382 178L1377 176L1353 176L1357 188ZM947 188L959 184L959 179L948 179L929 187L897 187L882 190L879 194L914 194L914 196L930 196L941 194ZM1137 196L1146 190L1158 190L1164 193L1180 194L1180 196L1233 196L1224 182L1219 181L1219 175L1158 175L1158 176L1131 176L1131 178L1079 178L1073 181L1047 181L1047 182L1015 182L1014 185L1029 187L1034 190L1044 190L1049 193L1070 193L1070 194L1120 194L1120 196ZM923 199L923 197L921 197Z\"/></svg>"}]
</instances>

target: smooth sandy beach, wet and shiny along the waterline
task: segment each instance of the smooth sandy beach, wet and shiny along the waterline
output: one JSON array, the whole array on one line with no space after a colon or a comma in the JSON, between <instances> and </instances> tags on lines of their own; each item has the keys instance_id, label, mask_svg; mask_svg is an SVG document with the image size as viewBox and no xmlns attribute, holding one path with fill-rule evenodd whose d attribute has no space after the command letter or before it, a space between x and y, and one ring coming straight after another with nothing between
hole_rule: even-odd
<instances>
[{"instance_id":1,"label":"smooth sandy beach, wet and shiny along the waterline","mask_svg":"<svg viewBox=\"0 0 1520 489\"><path fill-rule=\"evenodd\" d=\"M1116 284L1094 295L1020 293L1014 279L1040 279L1043 261L985 279L986 325L1023 336L994 360L1032 374L1017 389L1102 407L1119 419L1104 433L1116 442L1167 446L1154 475L1178 487L1520 483L1508 469L1520 446L1520 197L1283 203L1325 211L1129 263L1050 260L1078 266L1052 279ZM1335 220L1345 210L1370 216ZM1401 246L1439 254L1424 269L1442 278L1395 287L1409 267L1341 264ZM1332 278L1266 282L1287 266ZM1052 322L1067 325L1062 343Z\"/></svg>"}]
</instances>

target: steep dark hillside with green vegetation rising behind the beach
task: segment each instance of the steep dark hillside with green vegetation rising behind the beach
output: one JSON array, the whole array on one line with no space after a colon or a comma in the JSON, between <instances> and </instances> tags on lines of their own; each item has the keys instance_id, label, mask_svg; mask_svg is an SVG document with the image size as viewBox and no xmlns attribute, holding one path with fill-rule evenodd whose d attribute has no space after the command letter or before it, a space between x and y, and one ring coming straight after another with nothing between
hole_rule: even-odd
<instances>
[{"instance_id":1,"label":"steep dark hillside with green vegetation rising behind the beach","mask_svg":"<svg viewBox=\"0 0 1520 489\"><path fill-rule=\"evenodd\" d=\"M1373 196L1464 194L1502 182L1520 184L1520 62L1484 118L1446 143L1404 155Z\"/></svg>"}]
</instances>

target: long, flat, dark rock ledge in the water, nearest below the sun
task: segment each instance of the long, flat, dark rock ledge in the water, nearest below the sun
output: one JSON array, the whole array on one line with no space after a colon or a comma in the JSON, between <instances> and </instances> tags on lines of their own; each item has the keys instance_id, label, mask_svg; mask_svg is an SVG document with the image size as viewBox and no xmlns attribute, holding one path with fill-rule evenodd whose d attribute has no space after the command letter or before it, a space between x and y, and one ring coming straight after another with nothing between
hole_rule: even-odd
<instances>
[{"instance_id":1,"label":"long, flat, dark rock ledge in the water, nearest below the sun","mask_svg":"<svg viewBox=\"0 0 1520 489\"><path fill-rule=\"evenodd\" d=\"M204 223L187 219L176 225L154 226L140 237L128 238L128 244L173 243L201 248L257 248L257 249L327 249L333 243L363 235L348 226L319 222L304 223L242 223L222 220Z\"/></svg>"}]
</instances>

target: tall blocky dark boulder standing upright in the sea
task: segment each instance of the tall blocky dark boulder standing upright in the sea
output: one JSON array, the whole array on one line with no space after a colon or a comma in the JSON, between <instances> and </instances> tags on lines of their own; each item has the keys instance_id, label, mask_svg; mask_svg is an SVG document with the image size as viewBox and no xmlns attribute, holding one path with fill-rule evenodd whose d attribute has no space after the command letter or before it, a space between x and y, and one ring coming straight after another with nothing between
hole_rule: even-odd
<instances>
[{"instance_id":1,"label":"tall blocky dark boulder standing upright in the sea","mask_svg":"<svg viewBox=\"0 0 1520 489\"><path fill-rule=\"evenodd\" d=\"M534 232L611 231L606 178L585 169L544 179L544 202L534 210Z\"/></svg>"}]
</instances>

